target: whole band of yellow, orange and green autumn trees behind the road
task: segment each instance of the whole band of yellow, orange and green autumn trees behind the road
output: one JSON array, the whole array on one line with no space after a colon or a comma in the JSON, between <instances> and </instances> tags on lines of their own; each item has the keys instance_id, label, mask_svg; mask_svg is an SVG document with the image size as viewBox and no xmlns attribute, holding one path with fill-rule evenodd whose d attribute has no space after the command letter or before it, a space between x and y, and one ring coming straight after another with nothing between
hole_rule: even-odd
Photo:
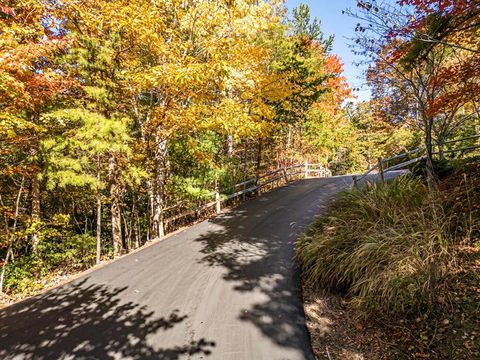
<instances>
[{"instance_id":1,"label":"whole band of yellow, orange and green autumn trees behind the road","mask_svg":"<svg viewBox=\"0 0 480 360\"><path fill-rule=\"evenodd\" d=\"M475 131L478 2L358 6L373 99L353 105L307 5L4 1L0 290L162 237L270 170L363 171L419 131L430 157Z\"/></svg>"}]
</instances>

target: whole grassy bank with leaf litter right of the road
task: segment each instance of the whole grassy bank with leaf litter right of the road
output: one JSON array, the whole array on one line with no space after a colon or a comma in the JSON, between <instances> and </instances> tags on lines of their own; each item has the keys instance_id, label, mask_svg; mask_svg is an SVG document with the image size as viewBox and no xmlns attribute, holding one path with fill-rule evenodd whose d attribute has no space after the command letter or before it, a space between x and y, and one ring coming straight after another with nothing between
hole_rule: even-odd
<instances>
[{"instance_id":1,"label":"whole grassy bank with leaf litter right of the road","mask_svg":"<svg viewBox=\"0 0 480 360\"><path fill-rule=\"evenodd\" d=\"M478 160L332 204L298 243L317 355L480 359L479 219Z\"/></svg>"}]
</instances>

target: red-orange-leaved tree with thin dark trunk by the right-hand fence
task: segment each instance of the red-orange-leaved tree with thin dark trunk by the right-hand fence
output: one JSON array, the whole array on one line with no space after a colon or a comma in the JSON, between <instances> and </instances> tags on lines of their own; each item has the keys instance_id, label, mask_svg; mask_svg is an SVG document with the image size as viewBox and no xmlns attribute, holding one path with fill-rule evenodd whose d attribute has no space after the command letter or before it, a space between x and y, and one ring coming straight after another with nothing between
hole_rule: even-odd
<instances>
[{"instance_id":1,"label":"red-orange-leaved tree with thin dark trunk by the right-hand fence","mask_svg":"<svg viewBox=\"0 0 480 360\"><path fill-rule=\"evenodd\" d=\"M472 72L457 72L464 80L448 76L452 69L459 70L457 66L472 69L472 60L478 57L475 46L464 46L470 42L467 34L478 31L473 20L477 5L451 3L360 1L359 11L350 12L361 20L356 40L359 53L374 63L368 71L374 97L384 99L384 113L393 121L408 119L422 129L429 173L435 142L441 147L465 125L471 117L459 113L464 113L477 96L467 91L476 86L472 85L476 83ZM466 19L472 20L471 27L459 25L466 24ZM470 65L463 67L462 63Z\"/></svg>"}]
</instances>

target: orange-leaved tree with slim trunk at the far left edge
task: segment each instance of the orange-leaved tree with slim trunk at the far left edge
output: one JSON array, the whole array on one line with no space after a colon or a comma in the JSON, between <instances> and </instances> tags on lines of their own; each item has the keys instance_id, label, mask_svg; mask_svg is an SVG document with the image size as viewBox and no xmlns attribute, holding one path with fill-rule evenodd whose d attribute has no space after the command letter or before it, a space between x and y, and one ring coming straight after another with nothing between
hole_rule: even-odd
<instances>
[{"instance_id":1,"label":"orange-leaved tree with slim trunk at the far left edge","mask_svg":"<svg viewBox=\"0 0 480 360\"><path fill-rule=\"evenodd\" d=\"M3 176L13 183L25 177L29 188L31 245L36 251L41 223L40 143L50 124L42 121L56 101L65 97L70 79L56 71L54 58L64 52L67 40L48 26L51 8L42 2L22 0L4 3L1 34L0 126Z\"/></svg>"}]
</instances>

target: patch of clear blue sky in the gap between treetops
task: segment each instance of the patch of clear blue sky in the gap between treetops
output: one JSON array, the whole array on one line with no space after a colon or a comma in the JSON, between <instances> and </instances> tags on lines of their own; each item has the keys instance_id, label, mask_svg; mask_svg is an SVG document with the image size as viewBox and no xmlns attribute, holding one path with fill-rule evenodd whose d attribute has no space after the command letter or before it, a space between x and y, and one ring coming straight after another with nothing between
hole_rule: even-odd
<instances>
[{"instance_id":1,"label":"patch of clear blue sky in the gap between treetops","mask_svg":"<svg viewBox=\"0 0 480 360\"><path fill-rule=\"evenodd\" d=\"M335 43L333 44L333 53L340 56L345 67L345 76L352 88L360 87L360 91L356 91L358 101L367 100L370 96L368 88L364 85L362 70L354 65L359 58L356 57L348 44L351 43L349 38L355 35L355 26L357 20L342 14L342 10L347 8L355 9L356 0L286 0L287 8L291 11L300 3L310 6L312 18L317 17L322 22L322 30L325 35L335 35ZM363 85L363 86L362 86Z\"/></svg>"}]
</instances>

